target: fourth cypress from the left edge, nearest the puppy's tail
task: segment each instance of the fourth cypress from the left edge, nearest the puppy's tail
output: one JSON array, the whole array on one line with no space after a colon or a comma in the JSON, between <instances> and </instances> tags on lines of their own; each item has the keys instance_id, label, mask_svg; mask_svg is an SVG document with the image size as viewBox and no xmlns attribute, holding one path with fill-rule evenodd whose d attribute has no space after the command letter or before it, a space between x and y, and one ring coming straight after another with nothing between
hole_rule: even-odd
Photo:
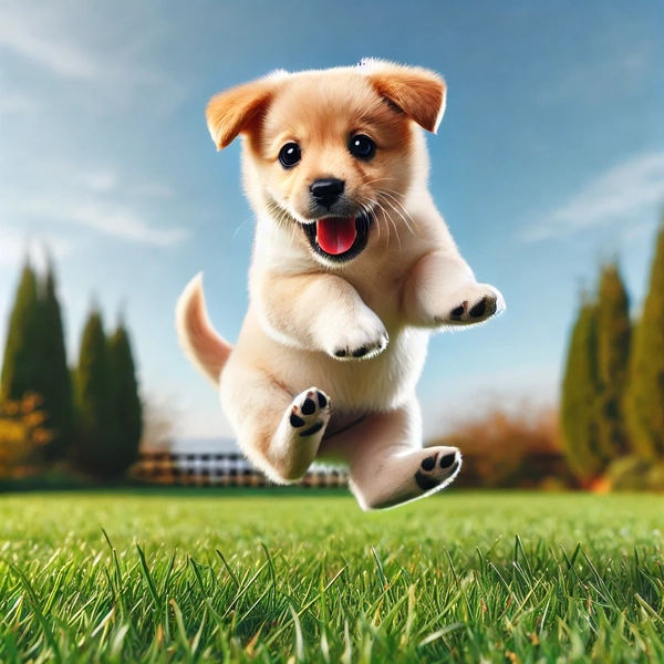
<instances>
[{"instance_id":1,"label":"fourth cypress from the left edge, nearest the puppy's tail","mask_svg":"<svg viewBox=\"0 0 664 664\"><path fill-rule=\"evenodd\" d=\"M138 457L143 435L143 405L138 394L136 366L129 336L121 321L108 340L108 355L113 374L113 404L117 422L115 469L124 473Z\"/></svg>"}]
</instances>

